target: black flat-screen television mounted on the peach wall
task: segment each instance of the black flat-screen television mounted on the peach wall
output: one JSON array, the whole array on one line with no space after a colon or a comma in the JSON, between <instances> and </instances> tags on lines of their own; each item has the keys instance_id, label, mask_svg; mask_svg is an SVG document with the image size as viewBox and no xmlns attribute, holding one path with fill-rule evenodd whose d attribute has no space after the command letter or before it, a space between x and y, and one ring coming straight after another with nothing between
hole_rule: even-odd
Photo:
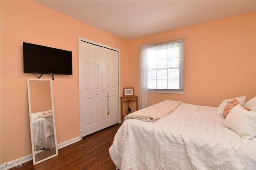
<instances>
[{"instance_id":1,"label":"black flat-screen television mounted on the peach wall","mask_svg":"<svg viewBox=\"0 0 256 170\"><path fill-rule=\"evenodd\" d=\"M25 73L72 75L72 51L23 42Z\"/></svg>"}]
</instances>

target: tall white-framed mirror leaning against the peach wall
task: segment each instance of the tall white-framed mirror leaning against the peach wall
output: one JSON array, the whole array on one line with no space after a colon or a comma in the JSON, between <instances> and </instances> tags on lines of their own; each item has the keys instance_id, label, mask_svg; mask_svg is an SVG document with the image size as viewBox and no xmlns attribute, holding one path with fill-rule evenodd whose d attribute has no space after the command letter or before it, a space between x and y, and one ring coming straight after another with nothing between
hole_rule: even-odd
<instances>
[{"instance_id":1,"label":"tall white-framed mirror leaning against the peach wall","mask_svg":"<svg viewBox=\"0 0 256 170\"><path fill-rule=\"evenodd\" d=\"M52 80L27 80L34 165L58 155Z\"/></svg>"}]
</instances>

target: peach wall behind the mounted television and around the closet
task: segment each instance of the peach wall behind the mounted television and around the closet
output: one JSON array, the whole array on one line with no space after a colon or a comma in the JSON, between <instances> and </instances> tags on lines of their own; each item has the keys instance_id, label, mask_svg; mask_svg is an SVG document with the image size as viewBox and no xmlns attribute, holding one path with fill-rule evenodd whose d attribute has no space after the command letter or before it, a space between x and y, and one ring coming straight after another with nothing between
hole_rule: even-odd
<instances>
[{"instance_id":1,"label":"peach wall behind the mounted television and around the closet","mask_svg":"<svg viewBox=\"0 0 256 170\"><path fill-rule=\"evenodd\" d=\"M127 58L127 41L33 1L1 1L0 16L0 163L6 163L32 153L26 79L37 78L23 73L22 43L72 51L73 75L54 75L52 82L59 144L80 136L78 37L120 49L121 65ZM40 79L51 76L44 74Z\"/></svg>"}]
</instances>

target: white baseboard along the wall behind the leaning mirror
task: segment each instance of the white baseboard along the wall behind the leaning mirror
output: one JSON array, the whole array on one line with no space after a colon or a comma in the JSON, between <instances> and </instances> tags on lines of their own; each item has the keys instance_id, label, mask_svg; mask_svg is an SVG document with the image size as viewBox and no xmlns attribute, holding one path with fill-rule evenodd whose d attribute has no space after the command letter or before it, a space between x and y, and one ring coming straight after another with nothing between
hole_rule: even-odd
<instances>
[{"instance_id":1,"label":"white baseboard along the wall behind the leaning mirror","mask_svg":"<svg viewBox=\"0 0 256 170\"><path fill-rule=\"evenodd\" d=\"M68 141L59 143L59 144L57 145L57 147L58 147L58 149L61 149L61 148L64 148L64 147L66 147L66 146L68 146L68 145L71 145L71 144L73 144L73 143L76 143L76 142L78 142L78 141L80 141L80 137L75 137L75 138L70 139L70 140L68 140ZM18 159L16 159L16 160L12 160L12 161L7 162L7 163L2 163L1 166L0 166L0 170L8 170L8 169L10 169L10 168L20 167L20 166L22 166L23 163L28 162L28 161L30 161L30 160L32 160L32 159L33 159L32 154L29 154L29 155L24 156L24 157L22 157L22 158L18 158Z\"/></svg>"}]
</instances>

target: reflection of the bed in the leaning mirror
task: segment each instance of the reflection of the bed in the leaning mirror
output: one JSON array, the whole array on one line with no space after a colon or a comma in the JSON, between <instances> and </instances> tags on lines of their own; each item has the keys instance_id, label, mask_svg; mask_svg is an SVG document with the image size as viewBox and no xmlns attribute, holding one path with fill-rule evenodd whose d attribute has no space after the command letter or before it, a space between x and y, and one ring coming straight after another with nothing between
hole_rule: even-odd
<instances>
[{"instance_id":1,"label":"reflection of the bed in the leaning mirror","mask_svg":"<svg viewBox=\"0 0 256 170\"><path fill-rule=\"evenodd\" d=\"M32 113L32 129L34 150L55 147L52 110Z\"/></svg>"}]
</instances>

